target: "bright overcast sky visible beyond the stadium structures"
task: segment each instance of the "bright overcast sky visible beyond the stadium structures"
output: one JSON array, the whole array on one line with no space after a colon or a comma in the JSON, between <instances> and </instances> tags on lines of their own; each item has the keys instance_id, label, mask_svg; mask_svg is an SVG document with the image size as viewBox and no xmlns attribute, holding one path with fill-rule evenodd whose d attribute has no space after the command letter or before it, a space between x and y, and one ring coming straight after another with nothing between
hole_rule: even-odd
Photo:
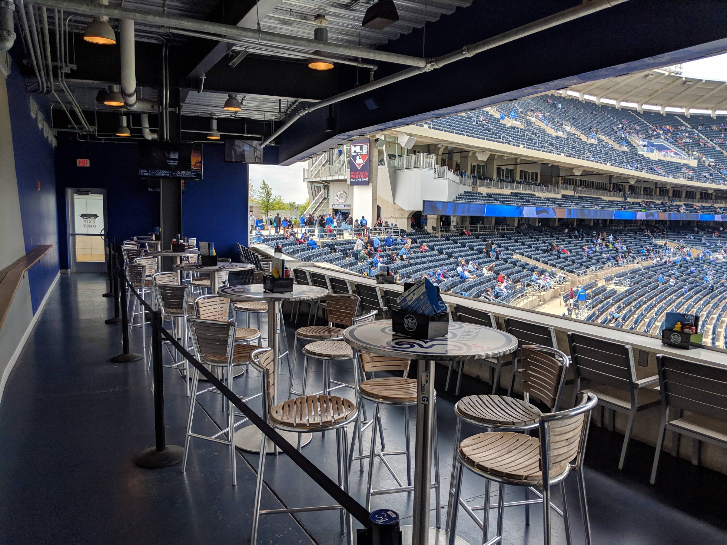
<instances>
[{"instance_id":1,"label":"bright overcast sky visible beyond the stadium structures","mask_svg":"<svg viewBox=\"0 0 727 545\"><path fill-rule=\"evenodd\" d=\"M693 60L683 64L683 75L688 78L727 81L727 53L706 59ZM308 197L308 189L303 183L305 162L291 166L250 165L250 179L255 187L260 187L263 179L281 193L286 200L302 203Z\"/></svg>"}]
</instances>

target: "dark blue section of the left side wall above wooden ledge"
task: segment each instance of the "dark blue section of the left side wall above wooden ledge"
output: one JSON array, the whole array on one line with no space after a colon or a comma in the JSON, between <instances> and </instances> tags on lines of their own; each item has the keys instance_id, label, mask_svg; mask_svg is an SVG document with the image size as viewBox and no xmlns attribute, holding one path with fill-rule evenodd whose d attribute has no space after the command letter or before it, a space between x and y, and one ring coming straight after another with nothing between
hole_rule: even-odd
<instances>
[{"instance_id":1,"label":"dark blue section of the left side wall above wooden ledge","mask_svg":"<svg viewBox=\"0 0 727 545\"><path fill-rule=\"evenodd\" d=\"M56 217L56 181L54 151L31 116L30 97L25 93L17 67L7 78L12 148L15 154L15 176L23 219L25 252L39 244L53 248L28 271L33 314L58 274L58 231ZM50 124L50 108L45 97L34 97L39 111ZM38 188L40 182L40 189Z\"/></svg>"}]
</instances>

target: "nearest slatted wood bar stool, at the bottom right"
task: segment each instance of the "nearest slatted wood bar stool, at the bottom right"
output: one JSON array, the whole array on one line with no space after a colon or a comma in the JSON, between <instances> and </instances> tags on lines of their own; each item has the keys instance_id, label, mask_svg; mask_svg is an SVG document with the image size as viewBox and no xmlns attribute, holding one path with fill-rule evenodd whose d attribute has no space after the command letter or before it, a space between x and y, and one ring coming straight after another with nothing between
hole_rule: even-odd
<instances>
[{"instance_id":1,"label":"nearest slatted wood bar stool, at the bottom right","mask_svg":"<svg viewBox=\"0 0 727 545\"><path fill-rule=\"evenodd\" d=\"M525 377L523 373L523 378ZM563 520L566 540L570 541L565 479L571 471L576 473L579 498L583 513L585 542L590 544L590 522L583 483L583 456L585 453L590 411L598 403L592 393L582 395L574 408L556 413L539 414L539 438L516 432L483 432L467 437L457 448L454 459L454 501L451 502L449 545L454 545L457 534L459 496L462 491L462 472L468 469L486 479L486 502L489 504L489 482L499 483L497 498L497 535L487 541L487 524L483 526L484 543L502 544L502 523L505 515L505 486L526 486L542 490L543 544L550 545L550 488L561 485L563 494ZM573 461L571 463L571 461ZM543 471L542 468L548 468Z\"/></svg>"}]
</instances>

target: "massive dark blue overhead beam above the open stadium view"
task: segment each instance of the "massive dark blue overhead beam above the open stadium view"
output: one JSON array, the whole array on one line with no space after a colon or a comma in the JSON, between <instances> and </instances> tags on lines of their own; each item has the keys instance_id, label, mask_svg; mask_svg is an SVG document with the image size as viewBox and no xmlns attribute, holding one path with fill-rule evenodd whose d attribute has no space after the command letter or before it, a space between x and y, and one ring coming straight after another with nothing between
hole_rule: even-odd
<instances>
[{"instance_id":1,"label":"massive dark blue overhead beam above the open stadium view","mask_svg":"<svg viewBox=\"0 0 727 545\"><path fill-rule=\"evenodd\" d=\"M579 1L473 2L427 25L425 53L451 52L575 4ZM683 17L681 0L630 0L361 94L337 105L333 135L325 132L327 108L321 108L278 137L279 158L289 164L361 134L727 50L726 33L715 17L726 13L723 1L694 0L689 7L689 17ZM387 49L414 54L417 47L420 55L421 30ZM379 70L377 78L386 73ZM376 110L364 105L370 97L379 103Z\"/></svg>"}]
</instances>

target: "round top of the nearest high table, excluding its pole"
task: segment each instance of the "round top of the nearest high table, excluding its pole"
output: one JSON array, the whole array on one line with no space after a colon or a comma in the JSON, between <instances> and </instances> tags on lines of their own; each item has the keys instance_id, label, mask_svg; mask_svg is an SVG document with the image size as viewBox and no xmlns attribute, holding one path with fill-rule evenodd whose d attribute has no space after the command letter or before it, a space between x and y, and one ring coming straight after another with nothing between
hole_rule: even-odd
<instances>
[{"instance_id":1,"label":"round top of the nearest high table, excluding its pole","mask_svg":"<svg viewBox=\"0 0 727 545\"><path fill-rule=\"evenodd\" d=\"M393 336L391 320L360 323L347 328L343 336L358 350L409 360L483 360L518 349L513 335L465 322L450 322L449 333L436 339Z\"/></svg>"}]
</instances>

